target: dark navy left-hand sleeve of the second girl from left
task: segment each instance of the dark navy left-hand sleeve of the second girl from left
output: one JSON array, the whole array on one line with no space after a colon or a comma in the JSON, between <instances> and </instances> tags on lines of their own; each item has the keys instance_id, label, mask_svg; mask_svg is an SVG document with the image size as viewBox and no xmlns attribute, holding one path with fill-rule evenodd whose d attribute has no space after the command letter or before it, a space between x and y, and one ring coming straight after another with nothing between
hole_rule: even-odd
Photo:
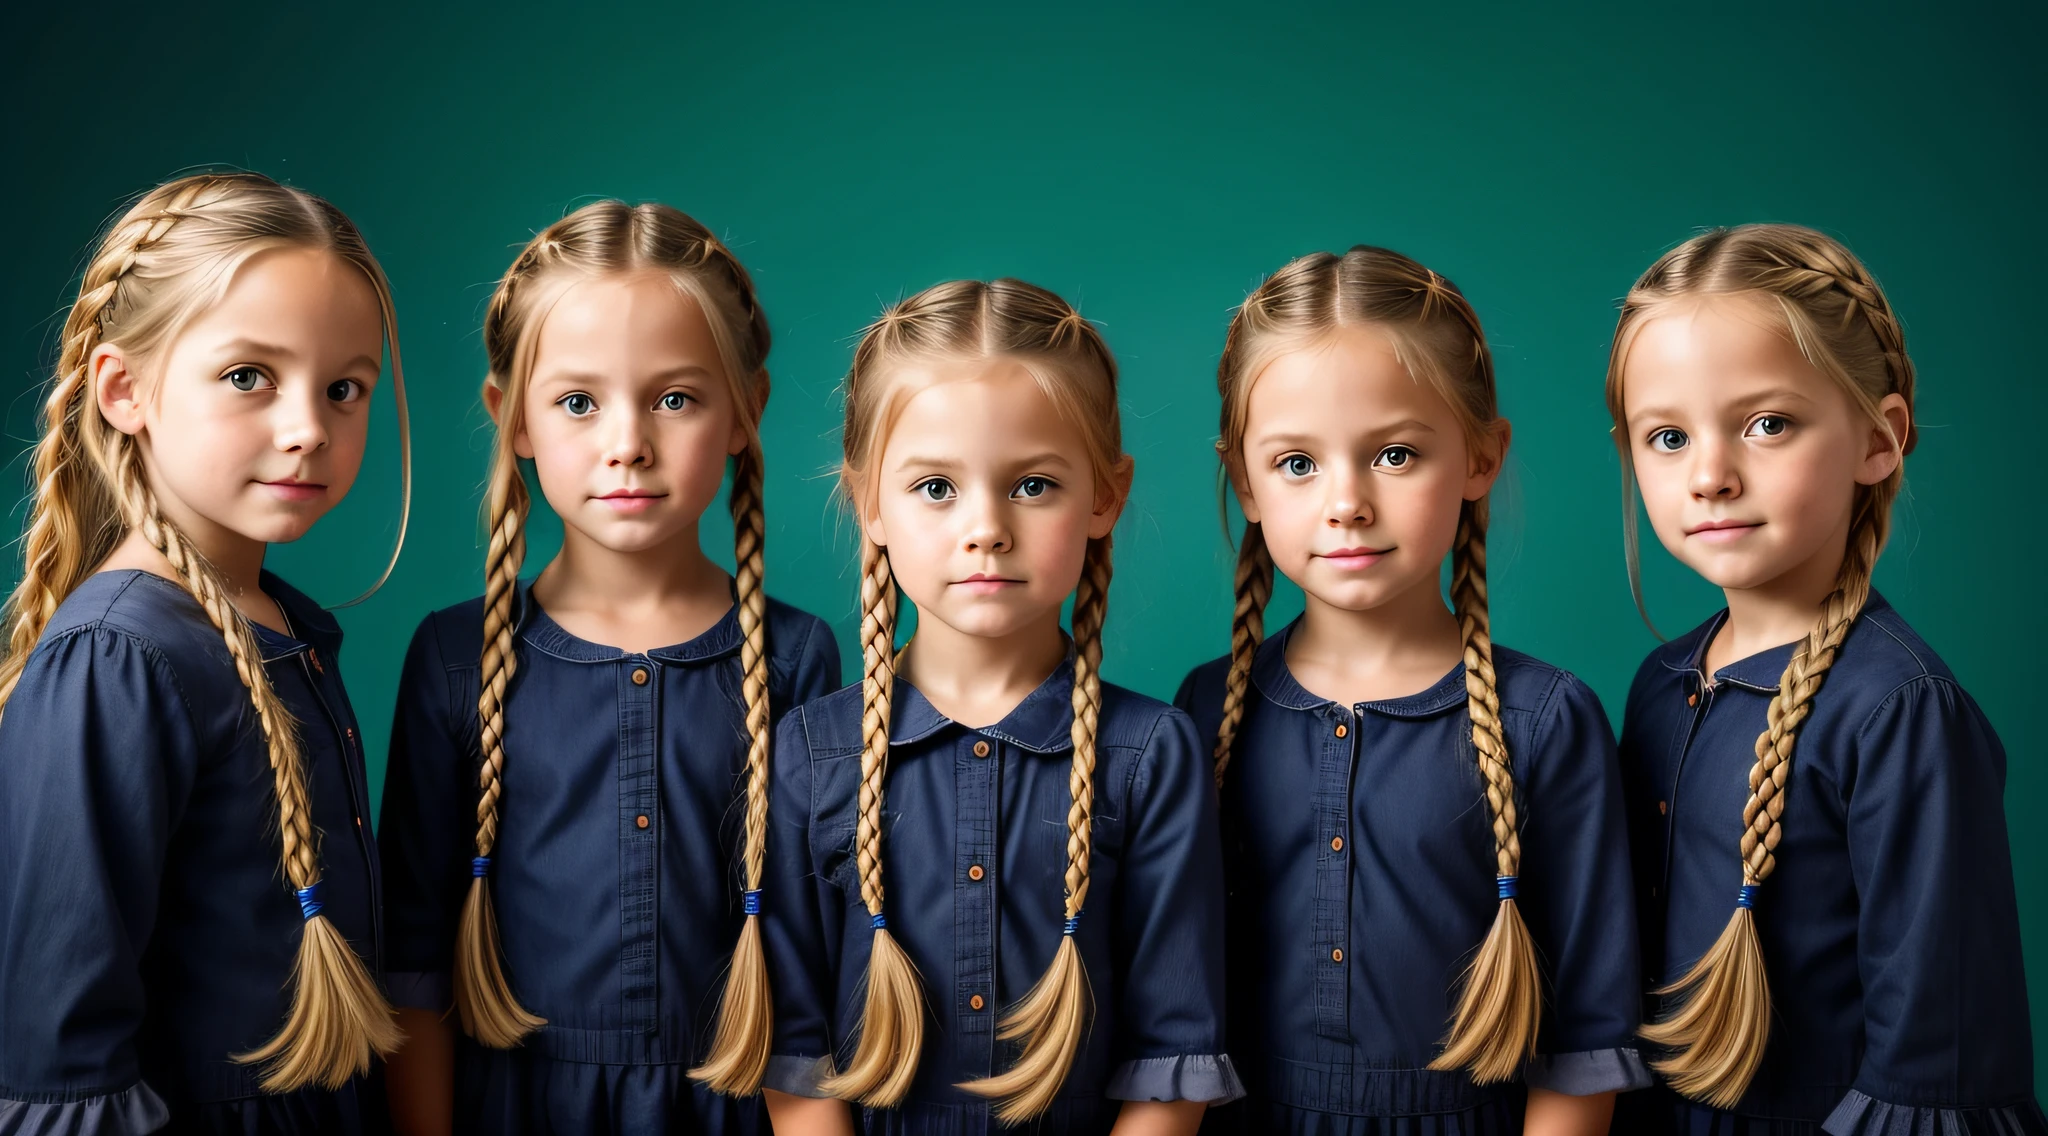
<instances>
[{"instance_id":1,"label":"dark navy left-hand sleeve of the second girl from left","mask_svg":"<svg viewBox=\"0 0 2048 1136\"><path fill-rule=\"evenodd\" d=\"M391 720L377 847L391 1001L446 1009L455 927L475 856L475 712L457 716L453 675L428 616L412 637Z\"/></svg>"}]
</instances>

